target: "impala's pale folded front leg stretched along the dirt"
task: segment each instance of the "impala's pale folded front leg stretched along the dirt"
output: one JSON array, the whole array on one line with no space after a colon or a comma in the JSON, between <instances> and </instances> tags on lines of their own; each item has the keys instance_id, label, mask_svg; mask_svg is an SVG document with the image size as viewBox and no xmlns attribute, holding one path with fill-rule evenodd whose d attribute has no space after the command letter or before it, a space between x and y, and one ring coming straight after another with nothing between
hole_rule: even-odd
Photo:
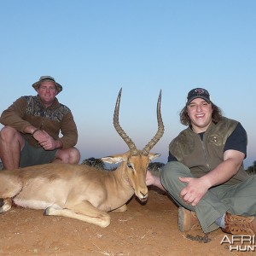
<instances>
[{"instance_id":1,"label":"impala's pale folded front leg stretched along the dirt","mask_svg":"<svg viewBox=\"0 0 256 256\"><path fill-rule=\"evenodd\" d=\"M108 213L102 212L92 206L89 201L83 201L73 206L72 209L55 209L54 207L48 207L45 209L44 215L76 218L90 224L96 224L102 228L106 228L110 224L110 216Z\"/></svg>"}]
</instances>

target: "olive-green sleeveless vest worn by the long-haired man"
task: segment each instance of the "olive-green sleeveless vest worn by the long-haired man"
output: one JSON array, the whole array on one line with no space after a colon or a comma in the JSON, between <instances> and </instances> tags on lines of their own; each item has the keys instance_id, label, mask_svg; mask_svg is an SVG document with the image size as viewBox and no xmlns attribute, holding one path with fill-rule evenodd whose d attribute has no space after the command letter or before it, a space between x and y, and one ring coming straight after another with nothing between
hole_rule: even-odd
<instances>
[{"instance_id":1,"label":"olive-green sleeveless vest worn by the long-haired man","mask_svg":"<svg viewBox=\"0 0 256 256\"><path fill-rule=\"evenodd\" d=\"M189 167L195 177L201 177L224 161L224 145L237 124L236 120L227 118L221 119L217 124L212 122L204 133L203 140L199 134L187 128L170 143L169 150L178 161ZM239 183L247 177L247 172L241 165L236 175L226 183Z\"/></svg>"}]
</instances>

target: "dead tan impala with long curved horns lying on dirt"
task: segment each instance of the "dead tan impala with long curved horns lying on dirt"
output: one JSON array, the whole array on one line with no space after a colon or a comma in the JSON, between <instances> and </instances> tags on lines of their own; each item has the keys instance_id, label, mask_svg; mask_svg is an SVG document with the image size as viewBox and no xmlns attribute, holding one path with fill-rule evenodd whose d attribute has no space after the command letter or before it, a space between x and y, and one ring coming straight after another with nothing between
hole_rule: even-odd
<instances>
[{"instance_id":1,"label":"dead tan impala with long curved horns lying on dirt","mask_svg":"<svg viewBox=\"0 0 256 256\"><path fill-rule=\"evenodd\" d=\"M137 149L119 125L121 92L122 89L114 108L113 126L130 150L102 158L108 163L120 163L115 171L52 163L0 172L0 212L7 212L14 203L20 207L44 209L44 215L77 218L105 228L110 224L108 212L125 212L126 202L132 195L146 201L148 163L160 156L149 151L164 134L161 91L157 102L158 131L143 150Z\"/></svg>"}]
</instances>

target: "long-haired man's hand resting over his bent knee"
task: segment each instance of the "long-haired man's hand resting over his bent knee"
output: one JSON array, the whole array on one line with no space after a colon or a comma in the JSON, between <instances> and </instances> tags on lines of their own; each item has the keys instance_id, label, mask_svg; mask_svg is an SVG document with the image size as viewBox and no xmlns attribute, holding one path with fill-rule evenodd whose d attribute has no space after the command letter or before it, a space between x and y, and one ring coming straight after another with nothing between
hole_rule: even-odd
<instances>
[{"instance_id":1,"label":"long-haired man's hand resting over his bent knee","mask_svg":"<svg viewBox=\"0 0 256 256\"><path fill-rule=\"evenodd\" d=\"M206 195L209 184L204 182L203 177L179 177L179 180L187 183L187 186L180 192L180 197L184 203L195 207Z\"/></svg>"}]
</instances>

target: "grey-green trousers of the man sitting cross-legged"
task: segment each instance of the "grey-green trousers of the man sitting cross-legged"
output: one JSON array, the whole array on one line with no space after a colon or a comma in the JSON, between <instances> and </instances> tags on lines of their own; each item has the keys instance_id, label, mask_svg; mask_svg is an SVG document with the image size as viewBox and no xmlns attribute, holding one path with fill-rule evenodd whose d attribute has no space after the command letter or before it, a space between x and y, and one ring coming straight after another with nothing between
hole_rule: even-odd
<instances>
[{"instance_id":1,"label":"grey-green trousers of the man sitting cross-legged","mask_svg":"<svg viewBox=\"0 0 256 256\"><path fill-rule=\"evenodd\" d=\"M186 183L178 177L193 177L187 166L180 162L168 162L160 174L160 181L180 207L196 212L205 233L218 229L215 220L225 212L243 216L256 216L256 176L234 185L218 185L207 191L207 194L195 206L185 204L179 194Z\"/></svg>"}]
</instances>

